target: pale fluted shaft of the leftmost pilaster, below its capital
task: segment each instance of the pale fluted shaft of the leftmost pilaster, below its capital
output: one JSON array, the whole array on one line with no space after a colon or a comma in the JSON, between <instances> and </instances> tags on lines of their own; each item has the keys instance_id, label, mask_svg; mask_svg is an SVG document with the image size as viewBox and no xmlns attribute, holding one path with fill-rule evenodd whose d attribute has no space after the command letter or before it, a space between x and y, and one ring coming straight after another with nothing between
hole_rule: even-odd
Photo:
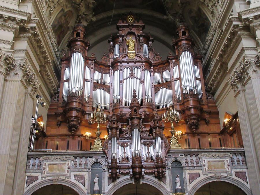
<instances>
[{"instance_id":1,"label":"pale fluted shaft of the leftmost pilaster, below its capital","mask_svg":"<svg viewBox=\"0 0 260 195\"><path fill-rule=\"evenodd\" d=\"M4 81L0 114L0 194L12 194L24 93L25 85L21 79Z\"/></svg>"}]
</instances>

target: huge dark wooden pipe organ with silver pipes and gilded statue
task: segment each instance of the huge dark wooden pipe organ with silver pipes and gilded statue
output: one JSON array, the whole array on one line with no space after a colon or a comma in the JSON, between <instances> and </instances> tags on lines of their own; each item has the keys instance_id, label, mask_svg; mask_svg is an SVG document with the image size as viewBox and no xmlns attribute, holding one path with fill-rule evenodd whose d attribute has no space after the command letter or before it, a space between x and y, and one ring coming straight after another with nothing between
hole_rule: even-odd
<instances>
[{"instance_id":1,"label":"huge dark wooden pipe organ with silver pipes and gilded statue","mask_svg":"<svg viewBox=\"0 0 260 195\"><path fill-rule=\"evenodd\" d=\"M179 26L172 42L176 55L170 52L162 61L142 20L121 19L116 27L118 34L108 39L109 52L101 61L87 56L84 27L73 30L69 52L61 59L59 96L48 111L47 137L38 149L89 150L96 125L88 124L88 114L99 106L110 119L100 128L114 179L118 169L136 179L144 170L163 176L171 134L170 123L160 116L168 107L182 113L174 125L182 131L182 148L224 147L218 109L205 92L202 57L193 51L188 28ZM88 140L86 132L91 133Z\"/></svg>"}]
</instances>

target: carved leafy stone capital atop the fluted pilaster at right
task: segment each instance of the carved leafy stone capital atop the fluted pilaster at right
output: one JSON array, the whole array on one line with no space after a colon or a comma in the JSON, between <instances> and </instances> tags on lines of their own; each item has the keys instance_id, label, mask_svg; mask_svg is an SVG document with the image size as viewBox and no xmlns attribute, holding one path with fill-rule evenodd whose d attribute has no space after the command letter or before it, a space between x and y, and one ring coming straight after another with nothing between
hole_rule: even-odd
<instances>
[{"instance_id":1,"label":"carved leafy stone capital atop the fluted pilaster at right","mask_svg":"<svg viewBox=\"0 0 260 195\"><path fill-rule=\"evenodd\" d=\"M259 76L260 54L254 59L245 57L243 62L239 62L239 66L234 70L233 74L227 81L231 89L236 93L244 89L245 81L251 76Z\"/></svg>"}]
</instances>

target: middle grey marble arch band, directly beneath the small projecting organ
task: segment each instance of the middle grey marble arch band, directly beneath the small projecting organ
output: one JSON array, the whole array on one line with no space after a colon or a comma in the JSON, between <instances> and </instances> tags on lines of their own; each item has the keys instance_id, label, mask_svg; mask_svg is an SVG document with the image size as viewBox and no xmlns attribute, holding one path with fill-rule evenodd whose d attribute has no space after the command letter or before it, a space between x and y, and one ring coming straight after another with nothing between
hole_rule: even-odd
<instances>
[{"instance_id":1,"label":"middle grey marble arch band, directly beneath the small projecting organ","mask_svg":"<svg viewBox=\"0 0 260 195\"><path fill-rule=\"evenodd\" d=\"M166 189L165 184L162 184L161 181L154 177L144 176L144 178L141 179L141 182L153 185L164 195L170 195L169 191ZM129 176L119 178L118 180L116 180L115 183L110 184L110 187L108 188L106 195L114 194L114 192L116 192L116 190L118 190L120 187L123 187L124 185L127 185L129 183L133 183L133 179L131 179Z\"/></svg>"}]
</instances>

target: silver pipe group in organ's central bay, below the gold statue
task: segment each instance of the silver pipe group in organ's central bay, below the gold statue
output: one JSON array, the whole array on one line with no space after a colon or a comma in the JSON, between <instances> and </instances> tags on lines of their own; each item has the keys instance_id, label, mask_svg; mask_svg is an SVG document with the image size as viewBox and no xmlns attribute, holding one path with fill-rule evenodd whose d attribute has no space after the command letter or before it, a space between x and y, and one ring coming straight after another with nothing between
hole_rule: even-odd
<instances>
[{"instance_id":1,"label":"silver pipe group in organ's central bay, below the gold statue","mask_svg":"<svg viewBox=\"0 0 260 195\"><path fill-rule=\"evenodd\" d=\"M131 99L133 98L133 90L136 90L137 99L140 105L143 105L142 101L142 83L141 83L141 71L140 68L134 68L133 72L137 78L127 78L129 77L130 68L125 68L123 71L123 106L130 106Z\"/></svg>"}]
</instances>

